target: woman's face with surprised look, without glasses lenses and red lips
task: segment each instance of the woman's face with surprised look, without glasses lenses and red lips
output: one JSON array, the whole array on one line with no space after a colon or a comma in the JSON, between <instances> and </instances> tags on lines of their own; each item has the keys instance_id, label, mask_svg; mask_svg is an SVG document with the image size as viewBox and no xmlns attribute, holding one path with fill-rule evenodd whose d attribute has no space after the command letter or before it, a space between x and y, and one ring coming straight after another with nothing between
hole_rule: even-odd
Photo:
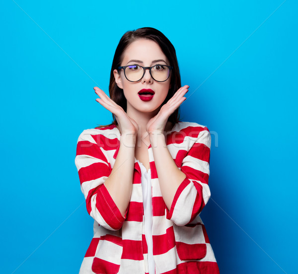
<instances>
[{"instance_id":1,"label":"woman's face with surprised look, without glasses lenses and red lips","mask_svg":"<svg viewBox=\"0 0 298 274\"><path fill-rule=\"evenodd\" d=\"M121 66L140 65L142 67L152 67L157 64L171 65L156 42L142 38L132 42L126 48L123 53ZM128 114L136 111L155 114L156 110L159 109L166 98L170 88L171 76L164 82L157 82L151 77L149 69L146 69L144 77L138 82L130 82L127 80L123 69L121 69L119 73L117 69L115 69L114 76L118 87L123 89L124 96L127 100ZM144 101L144 97L139 96L138 93L142 89L151 89L154 91L151 100Z\"/></svg>"}]
</instances>

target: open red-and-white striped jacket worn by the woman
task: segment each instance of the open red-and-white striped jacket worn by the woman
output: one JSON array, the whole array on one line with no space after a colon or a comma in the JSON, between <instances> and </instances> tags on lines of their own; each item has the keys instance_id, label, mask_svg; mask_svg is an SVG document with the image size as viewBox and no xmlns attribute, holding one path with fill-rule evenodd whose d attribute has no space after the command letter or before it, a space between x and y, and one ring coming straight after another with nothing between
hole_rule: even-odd
<instances>
[{"instance_id":1,"label":"open red-and-white striped jacket worn by the woman","mask_svg":"<svg viewBox=\"0 0 298 274\"><path fill-rule=\"evenodd\" d=\"M167 148L186 174L167 208L160 192L152 147L152 240L155 274L218 274L218 265L199 213L210 198L208 186L211 137L207 127L179 122L166 135ZM133 188L123 216L104 182L120 146L115 125L84 130L77 141L75 165L94 236L80 274L148 274L141 169L135 159ZM121 183L121 182L119 182Z\"/></svg>"}]
</instances>

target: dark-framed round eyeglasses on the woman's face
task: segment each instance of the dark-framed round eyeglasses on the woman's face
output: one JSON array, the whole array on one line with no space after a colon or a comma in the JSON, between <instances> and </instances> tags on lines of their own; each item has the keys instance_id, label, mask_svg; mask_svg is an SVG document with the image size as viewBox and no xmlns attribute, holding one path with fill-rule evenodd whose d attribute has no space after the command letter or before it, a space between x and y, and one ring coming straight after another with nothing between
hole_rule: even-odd
<instances>
[{"instance_id":1,"label":"dark-framed round eyeglasses on the woman's face","mask_svg":"<svg viewBox=\"0 0 298 274\"><path fill-rule=\"evenodd\" d=\"M153 67L142 67L140 65L128 65L123 67L118 67L118 70L123 69L125 78L130 82L140 81L149 69L151 77L157 82L164 82L170 76L170 71L173 69L172 66L166 65L155 65Z\"/></svg>"}]
</instances>

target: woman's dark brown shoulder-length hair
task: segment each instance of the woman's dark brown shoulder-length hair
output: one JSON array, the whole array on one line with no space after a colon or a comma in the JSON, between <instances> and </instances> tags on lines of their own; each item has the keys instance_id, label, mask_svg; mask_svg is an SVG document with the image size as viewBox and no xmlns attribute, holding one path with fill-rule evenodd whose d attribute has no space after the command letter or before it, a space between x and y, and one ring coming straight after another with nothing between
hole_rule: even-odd
<instances>
[{"instance_id":1,"label":"woman's dark brown shoulder-length hair","mask_svg":"<svg viewBox=\"0 0 298 274\"><path fill-rule=\"evenodd\" d=\"M110 98L116 102L119 106L121 106L124 111L126 112L127 101L123 93L123 89L119 88L116 84L115 77L114 77L114 69L118 69L121 66L121 62L123 60L123 53L126 48L137 39L150 39L156 42L161 51L167 57L170 66L173 67L171 70L171 79L170 79L170 89L168 92L167 97L163 101L162 105L164 105L173 95L174 93L181 87L181 78L180 78L180 71L178 67L178 61L176 57L176 51L172 43L157 29L151 27L144 27L139 28L136 30L127 31L119 41L119 44L116 48L112 68L111 68L111 75L110 75L110 84L109 84L109 94ZM168 121L172 123L179 122L179 108L177 108L169 117ZM117 121L115 116L113 115L113 123L117 125ZM111 124L111 125L112 125Z\"/></svg>"}]
</instances>

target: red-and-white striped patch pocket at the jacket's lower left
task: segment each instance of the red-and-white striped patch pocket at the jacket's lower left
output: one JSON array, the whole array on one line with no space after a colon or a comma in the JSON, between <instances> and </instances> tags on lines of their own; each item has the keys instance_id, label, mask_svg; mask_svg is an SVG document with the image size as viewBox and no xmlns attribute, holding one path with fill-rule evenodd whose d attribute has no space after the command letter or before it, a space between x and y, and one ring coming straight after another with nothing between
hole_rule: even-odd
<instances>
[{"instance_id":1,"label":"red-and-white striped patch pocket at the jacket's lower left","mask_svg":"<svg viewBox=\"0 0 298 274\"><path fill-rule=\"evenodd\" d=\"M96 274L118 273L122 252L122 238L109 234L101 236L93 259L92 271Z\"/></svg>"}]
</instances>

